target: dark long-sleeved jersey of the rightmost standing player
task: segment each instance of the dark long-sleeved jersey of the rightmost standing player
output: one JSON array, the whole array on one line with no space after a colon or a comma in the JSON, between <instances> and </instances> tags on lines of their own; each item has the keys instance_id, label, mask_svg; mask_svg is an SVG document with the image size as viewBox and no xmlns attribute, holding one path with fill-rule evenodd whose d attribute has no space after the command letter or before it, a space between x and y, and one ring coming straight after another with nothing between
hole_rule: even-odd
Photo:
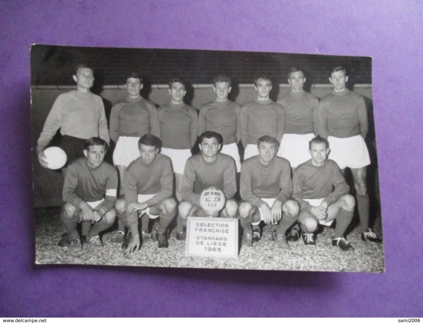
<instances>
[{"instance_id":1,"label":"dark long-sleeved jersey of the rightmost standing player","mask_svg":"<svg viewBox=\"0 0 423 323\"><path fill-rule=\"evenodd\" d=\"M363 97L346 89L332 90L319 103L318 133L328 136L349 138L356 135L366 137L368 132L367 110Z\"/></svg>"}]
</instances>

